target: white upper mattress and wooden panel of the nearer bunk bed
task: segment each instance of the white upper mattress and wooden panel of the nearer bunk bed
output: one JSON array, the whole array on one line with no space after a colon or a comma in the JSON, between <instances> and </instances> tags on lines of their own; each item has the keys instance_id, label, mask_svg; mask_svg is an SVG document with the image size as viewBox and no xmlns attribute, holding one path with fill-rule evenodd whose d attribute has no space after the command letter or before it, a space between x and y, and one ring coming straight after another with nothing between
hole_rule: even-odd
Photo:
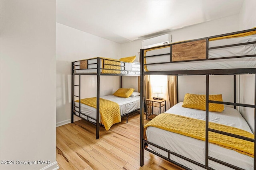
<instances>
[{"instance_id":1,"label":"white upper mattress and wooden panel of the nearer bunk bed","mask_svg":"<svg viewBox=\"0 0 256 170\"><path fill-rule=\"evenodd\" d=\"M256 34L244 37L233 37L228 39L217 39L209 41L208 47L218 47L238 43L256 42ZM171 47L156 47L155 49L145 50L144 56L161 55L171 53ZM256 55L256 43L225 47L219 49L209 49L208 59L237 57L244 55ZM256 68L256 57L229 58L218 60L206 59L206 39L178 43L172 45L171 55L161 55L156 57L145 57L146 71L166 71L166 70L207 70L207 69L227 69L227 68ZM195 60L195 61L192 61ZM202 60L202 61L196 61ZM179 63L179 61L182 61ZM187 61L187 62L184 62Z\"/></svg>"}]
</instances>

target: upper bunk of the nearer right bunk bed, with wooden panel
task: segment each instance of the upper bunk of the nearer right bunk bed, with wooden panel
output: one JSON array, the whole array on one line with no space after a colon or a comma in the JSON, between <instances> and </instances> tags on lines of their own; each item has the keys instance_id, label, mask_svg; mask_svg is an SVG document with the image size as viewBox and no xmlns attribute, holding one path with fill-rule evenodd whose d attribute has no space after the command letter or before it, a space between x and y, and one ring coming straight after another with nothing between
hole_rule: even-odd
<instances>
[{"instance_id":1,"label":"upper bunk of the nearer right bunk bed, with wooden panel","mask_svg":"<svg viewBox=\"0 0 256 170\"><path fill-rule=\"evenodd\" d=\"M142 74L256 73L256 28L141 49L140 52Z\"/></svg>"}]
</instances>

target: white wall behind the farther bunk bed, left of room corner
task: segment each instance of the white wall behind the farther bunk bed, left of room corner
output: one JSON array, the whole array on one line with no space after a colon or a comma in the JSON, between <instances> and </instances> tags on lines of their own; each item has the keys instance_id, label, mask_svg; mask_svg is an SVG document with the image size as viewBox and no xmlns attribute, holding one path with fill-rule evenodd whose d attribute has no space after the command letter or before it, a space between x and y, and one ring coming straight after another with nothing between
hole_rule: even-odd
<instances>
[{"instance_id":1,"label":"white wall behind the farther bunk bed, left of room corner","mask_svg":"<svg viewBox=\"0 0 256 170\"><path fill-rule=\"evenodd\" d=\"M121 45L56 23L57 126L71 122L71 62L92 57L122 58ZM96 76L81 76L81 97L96 97ZM78 78L76 78L78 84ZM100 96L119 88L119 76L100 76ZM78 95L78 88L75 88ZM75 98L78 100L78 98ZM74 117L78 120L78 117Z\"/></svg>"}]
</instances>

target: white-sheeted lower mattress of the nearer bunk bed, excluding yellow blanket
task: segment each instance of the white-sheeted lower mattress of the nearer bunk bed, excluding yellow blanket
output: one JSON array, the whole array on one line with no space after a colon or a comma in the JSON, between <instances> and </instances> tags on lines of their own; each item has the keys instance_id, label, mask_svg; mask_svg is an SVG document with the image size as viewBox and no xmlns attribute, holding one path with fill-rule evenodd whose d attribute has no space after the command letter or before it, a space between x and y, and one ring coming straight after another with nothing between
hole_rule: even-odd
<instances>
[{"instance_id":1,"label":"white-sheeted lower mattress of the nearer bunk bed, excluding yellow blanket","mask_svg":"<svg viewBox=\"0 0 256 170\"><path fill-rule=\"evenodd\" d=\"M205 111L182 107L182 102L170 108L168 111L166 111L166 113L173 113L177 115L205 120ZM242 115L236 109L231 107L225 107L224 111L222 111L221 113L209 112L209 121L236 127L252 133L250 127L248 126ZM148 127L146 130L146 135L148 141L158 146L181 154L182 156L195 160L196 162L200 162L201 164L205 164L204 141L180 135L177 133L172 133L170 131L158 129L156 127ZM159 154L168 158L167 152L153 147L152 145L149 145L149 147L155 152L158 152ZM240 154L234 150L226 149L212 143L209 143L208 149L209 156L213 158L228 162L229 164L244 168L246 170L254 169L254 158L250 156ZM173 156L172 154L170 154L170 158L193 170L204 170L204 168L201 168L195 164L187 162L186 160ZM211 160L209 160L209 166L211 168L214 168L215 170L232 169Z\"/></svg>"}]
</instances>

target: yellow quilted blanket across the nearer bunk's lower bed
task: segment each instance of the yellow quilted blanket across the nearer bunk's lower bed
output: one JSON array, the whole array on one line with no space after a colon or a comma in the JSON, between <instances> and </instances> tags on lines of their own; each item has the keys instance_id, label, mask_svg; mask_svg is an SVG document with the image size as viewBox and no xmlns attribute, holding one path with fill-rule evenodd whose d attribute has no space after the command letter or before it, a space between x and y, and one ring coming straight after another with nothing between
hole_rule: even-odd
<instances>
[{"instance_id":1,"label":"yellow quilted blanket across the nearer bunk's lower bed","mask_svg":"<svg viewBox=\"0 0 256 170\"><path fill-rule=\"evenodd\" d=\"M178 133L195 139L205 141L205 121L174 115L169 113L161 113L144 126L144 139L146 139L146 127L153 126L166 131ZM226 125L209 122L209 128L232 133L248 138L254 138L254 135ZM209 131L209 143L214 143L221 147L235 150L239 153L254 157L254 143L242 139L229 137L219 133Z\"/></svg>"}]
</instances>

